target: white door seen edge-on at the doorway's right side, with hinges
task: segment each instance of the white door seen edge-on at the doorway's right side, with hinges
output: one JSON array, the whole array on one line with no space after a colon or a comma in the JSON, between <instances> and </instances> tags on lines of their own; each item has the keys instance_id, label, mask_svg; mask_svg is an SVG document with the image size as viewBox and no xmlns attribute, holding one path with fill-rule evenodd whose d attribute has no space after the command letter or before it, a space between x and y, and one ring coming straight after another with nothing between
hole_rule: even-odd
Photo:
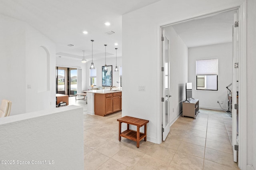
<instances>
[{"instance_id":1,"label":"white door seen edge-on at the doorway's right side, with hinges","mask_svg":"<svg viewBox=\"0 0 256 170\"><path fill-rule=\"evenodd\" d=\"M237 14L234 14L234 23L238 21ZM238 109L235 109L235 105L238 103L238 68L236 68L236 63L238 63L239 55L239 35L238 27L233 25L233 87L232 87L232 148L234 153L234 162L238 161L238 154L235 150L235 145L238 145Z\"/></svg>"}]
</instances>

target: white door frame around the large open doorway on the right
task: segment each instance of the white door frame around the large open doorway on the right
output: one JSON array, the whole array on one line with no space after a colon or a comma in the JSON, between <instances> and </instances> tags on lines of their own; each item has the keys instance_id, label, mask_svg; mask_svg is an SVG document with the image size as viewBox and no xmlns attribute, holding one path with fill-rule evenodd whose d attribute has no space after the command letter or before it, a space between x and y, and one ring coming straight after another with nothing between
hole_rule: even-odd
<instances>
[{"instance_id":1,"label":"white door frame around the large open doorway on the right","mask_svg":"<svg viewBox=\"0 0 256 170\"><path fill-rule=\"evenodd\" d=\"M239 133L239 152L238 152L238 166L240 169L246 169L247 168L247 77L246 77L246 69L247 69L247 65L246 65L246 0L237 6L233 6L230 8L227 7L220 7L223 8L222 10L216 10L216 11L212 11L212 12L205 12L201 15L198 16L194 16L192 18L187 18L184 20L178 20L175 22L169 22L169 23L164 23L164 24L160 24L158 25L158 32L157 32L157 36L158 38L158 54L159 54L159 59L161 58L161 49L162 49L162 43L161 43L161 29L162 27L166 27L166 26L171 26L174 24L179 24L182 22L187 22L190 20L194 20L194 19L200 19L200 18L206 18L209 16L213 16L216 14L220 14L223 12L228 12L228 11L235 11L238 10L238 17L239 17L239 58L238 58L238 63L239 63L239 71L238 71L238 75L239 75L239 82L238 82L238 86L239 86L239 101L238 101L238 133ZM159 77L161 77L161 62L158 60L158 75ZM159 81L161 82L161 80ZM159 84L160 85L160 84ZM158 87L160 87L158 85ZM161 88L159 88L159 94L161 94ZM159 113L161 112L161 96L159 95L159 103L158 103L158 108L159 108ZM242 115L242 116L241 116ZM157 127L157 138L158 138L158 142L161 143L162 140L161 139L161 135L162 135L162 127L161 127L161 115L158 116L158 127Z\"/></svg>"}]
</instances>

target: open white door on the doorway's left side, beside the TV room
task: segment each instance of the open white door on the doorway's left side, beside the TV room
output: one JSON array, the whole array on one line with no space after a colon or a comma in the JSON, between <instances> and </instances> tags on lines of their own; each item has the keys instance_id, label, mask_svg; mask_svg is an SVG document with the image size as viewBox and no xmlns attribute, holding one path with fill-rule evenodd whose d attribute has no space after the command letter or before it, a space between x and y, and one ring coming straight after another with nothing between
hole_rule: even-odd
<instances>
[{"instance_id":1,"label":"open white door on the doorway's left side, beside the TV room","mask_svg":"<svg viewBox=\"0 0 256 170\"><path fill-rule=\"evenodd\" d=\"M162 140L170 132L170 62L169 39L162 29Z\"/></svg>"}]
</instances>

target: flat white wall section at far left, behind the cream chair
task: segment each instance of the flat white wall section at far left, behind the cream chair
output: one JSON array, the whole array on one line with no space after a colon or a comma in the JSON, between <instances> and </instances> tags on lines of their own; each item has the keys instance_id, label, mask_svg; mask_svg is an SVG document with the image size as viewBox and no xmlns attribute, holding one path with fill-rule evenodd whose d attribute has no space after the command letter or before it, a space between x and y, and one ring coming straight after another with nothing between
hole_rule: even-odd
<instances>
[{"instance_id":1,"label":"flat white wall section at far left, behind the cream chair","mask_svg":"<svg viewBox=\"0 0 256 170\"><path fill-rule=\"evenodd\" d=\"M12 101L10 115L25 113L25 23L0 14L0 37L0 101Z\"/></svg>"}]
</instances>

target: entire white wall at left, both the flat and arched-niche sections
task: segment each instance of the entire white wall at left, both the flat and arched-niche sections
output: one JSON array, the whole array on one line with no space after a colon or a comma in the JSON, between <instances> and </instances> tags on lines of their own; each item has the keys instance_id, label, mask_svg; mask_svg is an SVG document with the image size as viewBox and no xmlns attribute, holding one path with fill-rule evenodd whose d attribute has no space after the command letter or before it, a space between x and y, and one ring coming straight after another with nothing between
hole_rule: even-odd
<instances>
[{"instance_id":1,"label":"entire white wall at left, both the flat and arched-niche sections","mask_svg":"<svg viewBox=\"0 0 256 170\"><path fill-rule=\"evenodd\" d=\"M0 15L0 25L0 100L12 101L10 115L53 108L55 44L20 20ZM44 84L47 87L40 87L44 91L38 89L37 82L37 76L44 74L36 67L40 65L37 57L40 47L47 49L49 56L49 82Z\"/></svg>"}]
</instances>

